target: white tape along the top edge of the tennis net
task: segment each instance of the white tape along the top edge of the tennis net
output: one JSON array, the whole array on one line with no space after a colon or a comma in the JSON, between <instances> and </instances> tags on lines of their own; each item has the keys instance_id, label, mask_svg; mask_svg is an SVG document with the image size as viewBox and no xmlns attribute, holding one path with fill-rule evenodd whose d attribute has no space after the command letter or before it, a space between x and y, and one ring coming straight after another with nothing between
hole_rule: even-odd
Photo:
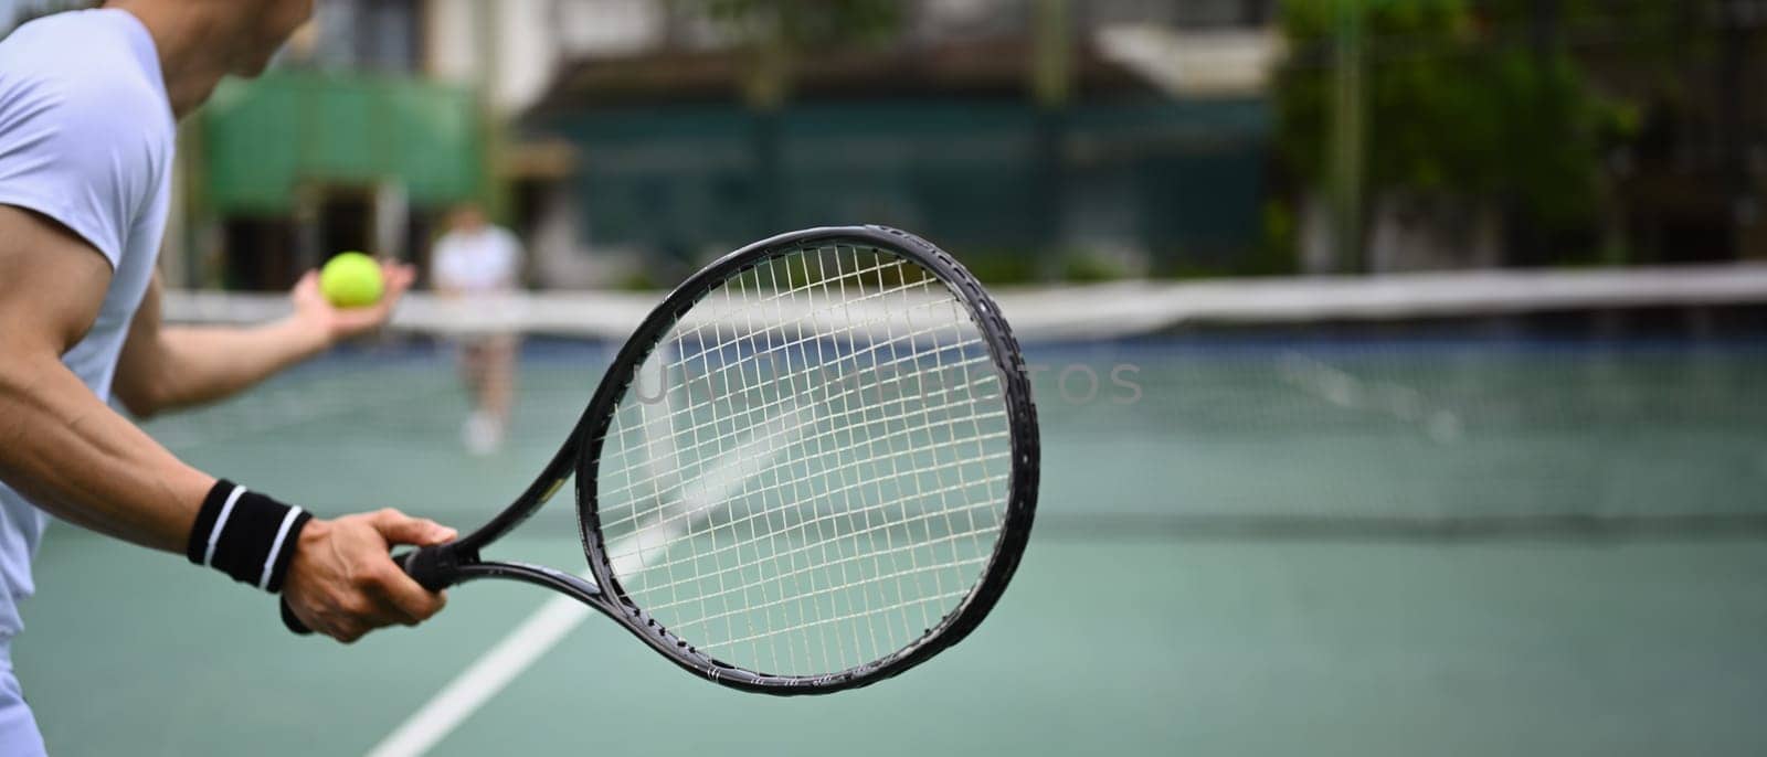
<instances>
[{"instance_id":1,"label":"white tape along the top edge of the tennis net","mask_svg":"<svg viewBox=\"0 0 1767 757\"><path fill-rule=\"evenodd\" d=\"M804 284L804 282L799 282ZM1767 265L1601 270L1475 270L1371 277L1131 281L991 288L1021 341L1120 339L1198 323L1398 321L1622 307L1767 302ZM804 295L804 293L800 293ZM392 326L417 334L523 332L624 341L663 293L534 293L484 304L406 295ZM809 307L785 298L779 307ZM864 307L864 305L855 305ZM262 323L288 314L286 295L166 291L177 323ZM857 312L857 311L855 311ZM823 318L832 318L823 314ZM859 318L859 316L855 316Z\"/></svg>"}]
</instances>

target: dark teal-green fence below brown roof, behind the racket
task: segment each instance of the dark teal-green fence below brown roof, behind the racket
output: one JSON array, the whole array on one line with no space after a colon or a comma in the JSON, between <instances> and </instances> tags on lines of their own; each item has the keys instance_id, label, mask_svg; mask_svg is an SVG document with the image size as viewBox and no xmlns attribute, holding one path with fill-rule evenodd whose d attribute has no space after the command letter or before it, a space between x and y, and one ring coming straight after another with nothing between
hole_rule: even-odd
<instances>
[{"instance_id":1,"label":"dark teal-green fence below brown roof, behind the racket","mask_svg":"<svg viewBox=\"0 0 1767 757\"><path fill-rule=\"evenodd\" d=\"M1221 259L1258 240L1262 99L845 101L587 108L544 127L581 148L595 244L696 256L770 231L891 222L972 251L1111 240Z\"/></svg>"}]
</instances>

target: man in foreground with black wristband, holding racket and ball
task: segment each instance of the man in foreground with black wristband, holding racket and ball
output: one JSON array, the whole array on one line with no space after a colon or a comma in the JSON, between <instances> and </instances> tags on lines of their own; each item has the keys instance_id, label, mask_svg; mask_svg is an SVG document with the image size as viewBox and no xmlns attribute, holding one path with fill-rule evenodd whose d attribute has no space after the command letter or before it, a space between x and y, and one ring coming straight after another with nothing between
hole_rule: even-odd
<instances>
[{"instance_id":1,"label":"man in foreground with black wristband, holding racket and ball","mask_svg":"<svg viewBox=\"0 0 1767 757\"><path fill-rule=\"evenodd\" d=\"M283 321L161 325L175 118L223 76L262 72L309 14L311 0L118 0L0 41L0 753L44 750L11 641L49 515L279 591L345 642L442 609L387 551L451 529L392 510L315 519L180 462L106 404L226 397L378 326L410 284L389 266L387 300L345 312L309 274Z\"/></svg>"}]
</instances>

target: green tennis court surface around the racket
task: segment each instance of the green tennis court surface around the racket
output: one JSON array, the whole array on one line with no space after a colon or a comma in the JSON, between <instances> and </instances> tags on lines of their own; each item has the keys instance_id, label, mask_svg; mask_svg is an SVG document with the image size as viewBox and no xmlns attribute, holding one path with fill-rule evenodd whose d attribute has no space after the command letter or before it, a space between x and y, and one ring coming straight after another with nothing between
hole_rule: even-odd
<instances>
[{"instance_id":1,"label":"green tennis court surface around the racket","mask_svg":"<svg viewBox=\"0 0 1767 757\"><path fill-rule=\"evenodd\" d=\"M601 348L535 344L461 452L445 355L357 351L148 429L322 513L474 526L557 448ZM965 644L820 699L728 692L588 618L433 753L1767 750L1767 348L1177 339L1044 348L1025 566ZM1133 364L1140 401L1110 372ZM1085 401L1087 365L1103 378ZM581 566L569 503L498 554ZM49 746L364 753L546 600L290 637L270 598L51 529L16 663Z\"/></svg>"}]
</instances>

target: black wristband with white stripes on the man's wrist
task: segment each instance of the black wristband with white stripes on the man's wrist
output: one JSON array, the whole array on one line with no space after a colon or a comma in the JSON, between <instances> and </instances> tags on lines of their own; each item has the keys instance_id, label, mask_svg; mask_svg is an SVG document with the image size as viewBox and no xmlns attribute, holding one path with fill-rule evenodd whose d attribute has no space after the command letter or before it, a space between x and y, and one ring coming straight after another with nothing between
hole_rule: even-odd
<instances>
[{"instance_id":1,"label":"black wristband with white stripes on the man's wrist","mask_svg":"<svg viewBox=\"0 0 1767 757\"><path fill-rule=\"evenodd\" d=\"M203 498L184 556L242 584L277 593L300 529L311 519L306 510L223 478Z\"/></svg>"}]
</instances>

